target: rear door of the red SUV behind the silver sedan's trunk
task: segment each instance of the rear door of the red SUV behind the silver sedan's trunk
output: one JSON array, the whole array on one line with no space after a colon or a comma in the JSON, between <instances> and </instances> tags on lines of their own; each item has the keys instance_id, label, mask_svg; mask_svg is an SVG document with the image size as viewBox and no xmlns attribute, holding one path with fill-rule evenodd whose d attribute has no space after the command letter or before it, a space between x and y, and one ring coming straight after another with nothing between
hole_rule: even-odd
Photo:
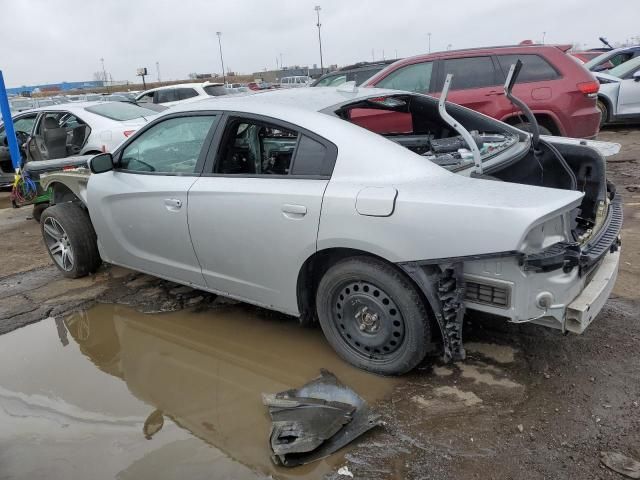
<instances>
[{"instance_id":1,"label":"rear door of the red SUV behind the silver sedan's trunk","mask_svg":"<svg viewBox=\"0 0 640 480\"><path fill-rule=\"evenodd\" d=\"M498 119L513 110L504 94L504 78L490 55L448 58L439 63L436 96L440 96L444 79L451 73L453 80L448 101Z\"/></svg>"}]
</instances>

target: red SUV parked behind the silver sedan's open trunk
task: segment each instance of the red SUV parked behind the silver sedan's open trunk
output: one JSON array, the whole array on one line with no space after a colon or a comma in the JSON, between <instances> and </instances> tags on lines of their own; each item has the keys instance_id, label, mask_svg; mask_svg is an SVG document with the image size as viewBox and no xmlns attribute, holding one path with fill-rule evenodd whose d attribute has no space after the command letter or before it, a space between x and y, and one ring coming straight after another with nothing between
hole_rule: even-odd
<instances>
[{"instance_id":1,"label":"red SUV parked behind the silver sedan's open trunk","mask_svg":"<svg viewBox=\"0 0 640 480\"><path fill-rule=\"evenodd\" d=\"M513 93L531 108L541 133L593 138L600 126L596 108L599 83L565 53L568 49L569 46L518 45L419 55L389 65L364 86L437 97L446 75L452 73L449 101L527 129L524 117L502 89L509 67L520 59L523 67ZM376 124L383 123L377 120L380 119L352 119L374 131ZM388 127L387 123L385 129Z\"/></svg>"}]
</instances>

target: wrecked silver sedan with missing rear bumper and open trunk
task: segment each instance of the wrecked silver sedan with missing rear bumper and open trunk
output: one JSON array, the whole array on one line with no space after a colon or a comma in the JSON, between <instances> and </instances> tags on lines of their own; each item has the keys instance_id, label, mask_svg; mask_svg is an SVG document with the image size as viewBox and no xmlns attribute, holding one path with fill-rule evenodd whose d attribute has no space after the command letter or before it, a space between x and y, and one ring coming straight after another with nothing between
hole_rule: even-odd
<instances>
[{"instance_id":1,"label":"wrecked silver sedan with missing rear bumper and open trunk","mask_svg":"<svg viewBox=\"0 0 640 480\"><path fill-rule=\"evenodd\" d=\"M366 109L415 128L374 134L353 121ZM104 261L318 319L344 359L379 374L436 345L463 358L465 309L582 333L620 254L602 142L440 109L369 88L177 106L91 158L88 180L42 179L45 245L67 277Z\"/></svg>"}]
</instances>

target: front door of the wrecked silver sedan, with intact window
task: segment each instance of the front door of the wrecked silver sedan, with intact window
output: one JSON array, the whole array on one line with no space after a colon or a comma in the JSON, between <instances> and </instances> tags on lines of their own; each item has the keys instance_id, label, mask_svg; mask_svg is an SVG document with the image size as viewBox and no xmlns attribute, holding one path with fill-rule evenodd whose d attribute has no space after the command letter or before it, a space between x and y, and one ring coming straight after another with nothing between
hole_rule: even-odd
<instances>
[{"instance_id":1,"label":"front door of the wrecked silver sedan, with intact window","mask_svg":"<svg viewBox=\"0 0 640 480\"><path fill-rule=\"evenodd\" d=\"M219 115L163 118L115 153L113 171L91 175L87 204L110 263L202 287L187 224L187 192L202 170Z\"/></svg>"}]
</instances>

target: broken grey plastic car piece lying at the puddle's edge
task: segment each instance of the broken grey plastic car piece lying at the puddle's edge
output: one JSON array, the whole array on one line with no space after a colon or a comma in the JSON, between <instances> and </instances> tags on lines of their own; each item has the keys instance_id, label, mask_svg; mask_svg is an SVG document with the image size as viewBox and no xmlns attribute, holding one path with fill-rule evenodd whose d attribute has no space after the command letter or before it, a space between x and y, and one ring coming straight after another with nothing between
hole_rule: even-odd
<instances>
[{"instance_id":1,"label":"broken grey plastic car piece lying at the puddle's edge","mask_svg":"<svg viewBox=\"0 0 640 480\"><path fill-rule=\"evenodd\" d=\"M328 457L376 425L380 416L336 376L320 376L299 389L263 394L272 425L272 459L294 467Z\"/></svg>"}]
</instances>

